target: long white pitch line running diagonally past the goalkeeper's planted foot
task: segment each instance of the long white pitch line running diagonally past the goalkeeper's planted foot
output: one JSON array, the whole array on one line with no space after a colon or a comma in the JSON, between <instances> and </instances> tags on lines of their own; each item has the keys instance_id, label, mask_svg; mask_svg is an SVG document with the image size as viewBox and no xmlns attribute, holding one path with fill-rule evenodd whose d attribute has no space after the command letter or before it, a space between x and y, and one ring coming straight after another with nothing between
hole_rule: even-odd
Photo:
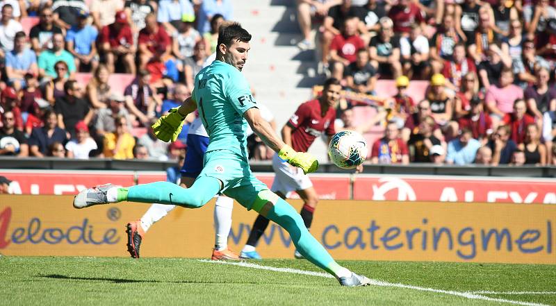
<instances>
[{"instance_id":1,"label":"long white pitch line running diagonally past the goalkeeper's planted foot","mask_svg":"<svg viewBox=\"0 0 556 306\"><path fill-rule=\"evenodd\" d=\"M296 273L296 274L303 274L303 275L320 276L321 278L334 278L333 275L330 275L328 273L304 271L304 270L298 270L298 269L292 269L292 268L277 268L275 266L261 266L260 264L252 264L250 262L224 262L224 261L218 261L218 260L198 260L198 261L199 262L208 262L208 263L211 263L211 264L231 264L233 266L243 266L243 267L246 267L246 268L268 270L268 271L275 271L275 272L285 272L285 273ZM373 284L375 286L397 287L397 288L404 288L404 289L414 289L414 290L418 290L418 291L428 291L428 292L434 292L434 293L437 293L437 294L448 294L450 296L461 296L462 298L469 298L469 299L472 299L472 300L489 300L491 302L507 303L507 304L514 304L514 305L523 305L523 306L550 306L550 305L539 304L539 303L521 302L519 300L506 300L504 298L491 298L489 296L482 296L482 295L476 294L474 292L459 292L459 291L451 291L451 290L433 289L433 288L413 286L411 284L384 282L382 280L370 280L370 281L371 281L371 284ZM484 291L484 292L486 292L486 291Z\"/></svg>"}]
</instances>

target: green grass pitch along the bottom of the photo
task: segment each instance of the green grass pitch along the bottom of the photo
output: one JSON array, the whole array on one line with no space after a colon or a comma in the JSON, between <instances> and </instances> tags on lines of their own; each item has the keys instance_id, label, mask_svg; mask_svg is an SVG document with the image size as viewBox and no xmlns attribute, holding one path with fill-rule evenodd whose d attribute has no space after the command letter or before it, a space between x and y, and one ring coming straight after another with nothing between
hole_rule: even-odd
<instances>
[{"instance_id":1,"label":"green grass pitch along the bottom of the photo","mask_svg":"<svg viewBox=\"0 0 556 306\"><path fill-rule=\"evenodd\" d=\"M257 266L179 258L2 256L0 305L556 305L556 265L343 261L388 283L343 288L323 275L260 269L322 272L306 260L249 263ZM448 293L454 291L466 294Z\"/></svg>"}]
</instances>

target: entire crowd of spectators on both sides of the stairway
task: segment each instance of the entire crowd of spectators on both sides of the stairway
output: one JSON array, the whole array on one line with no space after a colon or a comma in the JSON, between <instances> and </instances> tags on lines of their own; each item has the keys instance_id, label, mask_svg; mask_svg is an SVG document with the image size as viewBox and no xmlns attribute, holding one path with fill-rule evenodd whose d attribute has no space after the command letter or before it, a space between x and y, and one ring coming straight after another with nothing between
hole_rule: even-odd
<instances>
[{"instance_id":1,"label":"entire crowd of spectators on both sides of the stairway","mask_svg":"<svg viewBox=\"0 0 556 306\"><path fill-rule=\"evenodd\" d=\"M0 155L183 155L188 124L172 144L149 126L193 90L220 24L233 19L231 1L0 6ZM314 49L319 71L345 90L375 94L377 79L395 80L398 94L364 126L353 126L357 103L338 105L337 130L384 130L369 144L371 162L556 164L554 3L297 0L297 19L297 46ZM113 74L132 79L122 86ZM407 93L414 80L430 80L423 101ZM270 158L260 139L250 141L252 158Z\"/></svg>"}]
</instances>

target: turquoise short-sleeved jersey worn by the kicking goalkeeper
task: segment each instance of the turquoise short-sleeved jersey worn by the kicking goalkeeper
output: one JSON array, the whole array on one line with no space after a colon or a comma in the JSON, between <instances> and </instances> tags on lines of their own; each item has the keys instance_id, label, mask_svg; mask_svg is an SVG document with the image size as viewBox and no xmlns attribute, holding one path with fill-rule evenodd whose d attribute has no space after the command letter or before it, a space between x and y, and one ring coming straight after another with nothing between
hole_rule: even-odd
<instances>
[{"instance_id":1,"label":"turquoise short-sleeved jersey worn by the kicking goalkeeper","mask_svg":"<svg viewBox=\"0 0 556 306\"><path fill-rule=\"evenodd\" d=\"M247 160L247 121L243 113L256 108L256 101L241 71L215 60L195 76L192 98L211 139L206 152L230 150Z\"/></svg>"}]
</instances>

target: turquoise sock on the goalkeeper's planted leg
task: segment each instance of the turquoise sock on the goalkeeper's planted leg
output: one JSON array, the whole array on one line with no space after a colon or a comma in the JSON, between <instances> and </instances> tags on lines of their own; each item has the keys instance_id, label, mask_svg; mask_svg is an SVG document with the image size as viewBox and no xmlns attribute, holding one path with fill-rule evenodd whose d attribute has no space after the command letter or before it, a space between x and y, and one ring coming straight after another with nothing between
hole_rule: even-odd
<instances>
[{"instance_id":1,"label":"turquoise sock on the goalkeeper's planted leg","mask_svg":"<svg viewBox=\"0 0 556 306\"><path fill-rule=\"evenodd\" d=\"M317 239L307 230L300 214L286 201L278 198L275 205L268 211L267 217L289 232L293 244L306 260L316 264L316 266L331 273L336 278L345 275L347 269L334 261L324 246L318 243Z\"/></svg>"}]
</instances>

